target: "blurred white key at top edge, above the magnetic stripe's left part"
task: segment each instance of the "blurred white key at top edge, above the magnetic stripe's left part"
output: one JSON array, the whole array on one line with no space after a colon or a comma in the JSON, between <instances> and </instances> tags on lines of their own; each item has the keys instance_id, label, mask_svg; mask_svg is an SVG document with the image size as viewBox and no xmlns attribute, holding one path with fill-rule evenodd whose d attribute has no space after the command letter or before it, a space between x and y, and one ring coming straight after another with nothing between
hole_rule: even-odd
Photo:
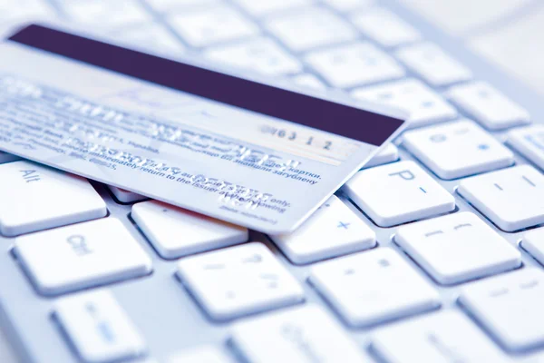
<instances>
[{"instance_id":1,"label":"blurred white key at top edge, above the magnetic stripe's left part","mask_svg":"<svg viewBox=\"0 0 544 363\"><path fill-rule=\"evenodd\" d=\"M141 26L152 21L151 15L134 0L64 0L62 9L73 23L93 27L99 25L98 29L101 31L104 28L119 29L127 25Z\"/></svg>"}]
</instances>

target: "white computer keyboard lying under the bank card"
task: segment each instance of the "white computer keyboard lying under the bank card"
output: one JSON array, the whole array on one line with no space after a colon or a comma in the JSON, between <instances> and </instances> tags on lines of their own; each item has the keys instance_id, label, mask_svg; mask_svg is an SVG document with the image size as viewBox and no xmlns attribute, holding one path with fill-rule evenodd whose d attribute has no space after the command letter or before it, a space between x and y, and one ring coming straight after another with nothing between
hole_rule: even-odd
<instances>
[{"instance_id":1,"label":"white computer keyboard lying under the bank card","mask_svg":"<svg viewBox=\"0 0 544 363\"><path fill-rule=\"evenodd\" d=\"M414 19L393 0L0 0L0 34L77 23L403 107L413 126L280 236L0 152L18 357L544 362L539 98Z\"/></svg>"}]
</instances>

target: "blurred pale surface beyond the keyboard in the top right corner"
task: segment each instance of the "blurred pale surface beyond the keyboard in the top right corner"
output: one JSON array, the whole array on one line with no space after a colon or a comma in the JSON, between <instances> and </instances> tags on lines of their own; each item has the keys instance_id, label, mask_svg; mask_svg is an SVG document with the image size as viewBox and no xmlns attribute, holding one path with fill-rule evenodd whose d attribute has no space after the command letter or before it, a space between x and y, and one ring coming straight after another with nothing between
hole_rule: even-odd
<instances>
[{"instance_id":1,"label":"blurred pale surface beyond the keyboard in the top right corner","mask_svg":"<svg viewBox=\"0 0 544 363\"><path fill-rule=\"evenodd\" d=\"M544 3L539 0L401 0L476 54L544 94Z\"/></svg>"}]
</instances>

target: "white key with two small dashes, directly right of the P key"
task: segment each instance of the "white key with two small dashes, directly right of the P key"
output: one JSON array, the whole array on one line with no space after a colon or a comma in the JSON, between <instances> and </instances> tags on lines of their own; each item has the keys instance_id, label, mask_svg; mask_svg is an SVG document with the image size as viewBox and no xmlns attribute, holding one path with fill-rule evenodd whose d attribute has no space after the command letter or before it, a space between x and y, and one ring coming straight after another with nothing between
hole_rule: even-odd
<instances>
[{"instance_id":1,"label":"white key with two small dashes, directly right of the P key","mask_svg":"<svg viewBox=\"0 0 544 363\"><path fill-rule=\"evenodd\" d=\"M458 191L503 231L544 223L544 176L529 165L465 179Z\"/></svg>"}]
</instances>

